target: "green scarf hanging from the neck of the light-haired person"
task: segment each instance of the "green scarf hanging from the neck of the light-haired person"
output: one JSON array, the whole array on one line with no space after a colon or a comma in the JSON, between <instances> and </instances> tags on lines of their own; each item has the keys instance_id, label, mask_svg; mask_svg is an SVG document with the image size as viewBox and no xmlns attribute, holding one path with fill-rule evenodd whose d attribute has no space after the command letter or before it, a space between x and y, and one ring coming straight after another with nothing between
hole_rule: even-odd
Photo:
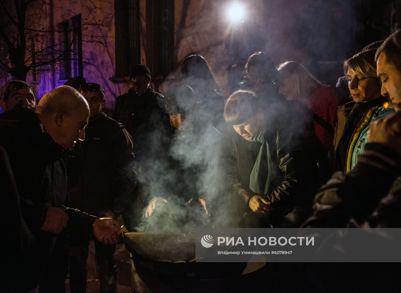
<instances>
[{"instance_id":1,"label":"green scarf hanging from the neck of the light-haired person","mask_svg":"<svg viewBox=\"0 0 401 293\"><path fill-rule=\"evenodd\" d=\"M259 134L250 140L252 142L260 142L262 145L250 175L249 189L251 189L251 191L254 193L263 195L269 193L269 185L272 175L272 172L269 172L269 167L271 166L271 157L269 145L265 139L265 132L266 130L259 132Z\"/></svg>"}]
</instances>

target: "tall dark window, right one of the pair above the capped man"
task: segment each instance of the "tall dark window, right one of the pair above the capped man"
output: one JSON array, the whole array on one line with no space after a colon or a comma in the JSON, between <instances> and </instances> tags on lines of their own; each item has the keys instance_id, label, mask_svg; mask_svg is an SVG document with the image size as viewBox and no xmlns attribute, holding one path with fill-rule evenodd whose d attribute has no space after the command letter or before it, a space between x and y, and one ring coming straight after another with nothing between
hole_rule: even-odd
<instances>
[{"instance_id":1,"label":"tall dark window, right one of the pair above the capped man","mask_svg":"<svg viewBox=\"0 0 401 293\"><path fill-rule=\"evenodd\" d=\"M155 76L174 66L174 0L146 1L146 64Z\"/></svg>"}]
</instances>

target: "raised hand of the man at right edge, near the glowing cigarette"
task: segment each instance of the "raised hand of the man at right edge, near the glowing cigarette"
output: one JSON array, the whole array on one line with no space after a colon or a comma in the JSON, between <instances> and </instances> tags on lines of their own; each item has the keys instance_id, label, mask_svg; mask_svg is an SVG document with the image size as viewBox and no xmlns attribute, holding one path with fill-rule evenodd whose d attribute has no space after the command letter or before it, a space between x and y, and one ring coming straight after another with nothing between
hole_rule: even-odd
<instances>
[{"instance_id":1,"label":"raised hand of the man at right edge, near the glowing cigarette","mask_svg":"<svg viewBox=\"0 0 401 293\"><path fill-rule=\"evenodd\" d=\"M395 112L373 122L368 140L385 144L401 153L401 112Z\"/></svg>"}]
</instances>

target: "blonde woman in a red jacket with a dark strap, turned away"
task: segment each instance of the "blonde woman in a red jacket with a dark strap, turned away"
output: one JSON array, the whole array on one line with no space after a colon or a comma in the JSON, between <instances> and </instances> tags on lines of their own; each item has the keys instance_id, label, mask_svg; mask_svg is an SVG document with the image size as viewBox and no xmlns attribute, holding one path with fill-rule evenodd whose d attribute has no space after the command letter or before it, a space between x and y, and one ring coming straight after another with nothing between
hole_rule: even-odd
<instances>
[{"instance_id":1,"label":"blonde woman in a red jacket with a dark strap, turned away","mask_svg":"<svg viewBox=\"0 0 401 293\"><path fill-rule=\"evenodd\" d=\"M327 161L328 149L334 137L338 93L333 86L322 84L304 66L286 61L277 68L279 93L294 101L294 107L304 116L305 123L312 124Z\"/></svg>"}]
</instances>

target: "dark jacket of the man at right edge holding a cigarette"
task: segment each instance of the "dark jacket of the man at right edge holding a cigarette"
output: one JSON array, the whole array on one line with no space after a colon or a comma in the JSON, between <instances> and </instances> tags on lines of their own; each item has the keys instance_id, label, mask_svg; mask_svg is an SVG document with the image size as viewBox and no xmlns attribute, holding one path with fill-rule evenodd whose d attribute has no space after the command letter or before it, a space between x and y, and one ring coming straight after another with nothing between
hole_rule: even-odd
<instances>
[{"instance_id":1,"label":"dark jacket of the man at right edge holding a cigarette","mask_svg":"<svg viewBox=\"0 0 401 293\"><path fill-rule=\"evenodd\" d=\"M401 156L367 143L356 166L335 173L316 194L314 215L304 227L401 227Z\"/></svg>"}]
</instances>

